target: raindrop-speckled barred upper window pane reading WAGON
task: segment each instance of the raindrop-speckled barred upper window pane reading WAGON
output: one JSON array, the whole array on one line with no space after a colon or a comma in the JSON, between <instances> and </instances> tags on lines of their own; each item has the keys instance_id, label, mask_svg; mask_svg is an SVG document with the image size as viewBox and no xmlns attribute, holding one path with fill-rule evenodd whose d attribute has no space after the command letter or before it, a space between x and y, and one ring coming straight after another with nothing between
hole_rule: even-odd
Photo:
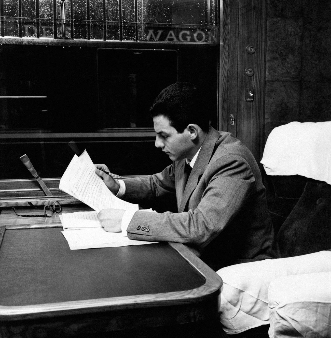
<instances>
[{"instance_id":1,"label":"raindrop-speckled barred upper window pane reading WAGON","mask_svg":"<svg viewBox=\"0 0 331 338\"><path fill-rule=\"evenodd\" d=\"M216 43L215 0L0 0L1 36Z\"/></svg>"}]
</instances>

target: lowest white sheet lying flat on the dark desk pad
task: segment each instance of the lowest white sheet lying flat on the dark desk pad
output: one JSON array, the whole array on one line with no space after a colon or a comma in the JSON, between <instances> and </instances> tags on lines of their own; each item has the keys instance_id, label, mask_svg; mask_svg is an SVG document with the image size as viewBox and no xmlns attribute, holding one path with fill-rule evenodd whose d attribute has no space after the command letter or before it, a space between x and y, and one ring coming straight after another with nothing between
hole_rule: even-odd
<instances>
[{"instance_id":1,"label":"lowest white sheet lying flat on the dark desk pad","mask_svg":"<svg viewBox=\"0 0 331 338\"><path fill-rule=\"evenodd\" d=\"M61 233L67 240L70 250L156 243L129 239L122 236L122 233L109 233L103 227L61 231Z\"/></svg>"}]
</instances>

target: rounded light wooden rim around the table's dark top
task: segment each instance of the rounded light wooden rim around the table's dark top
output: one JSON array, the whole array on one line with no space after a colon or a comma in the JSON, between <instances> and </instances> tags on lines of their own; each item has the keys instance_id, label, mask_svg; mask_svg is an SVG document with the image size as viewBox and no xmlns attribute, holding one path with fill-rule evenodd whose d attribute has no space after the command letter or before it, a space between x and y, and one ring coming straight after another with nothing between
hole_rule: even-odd
<instances>
[{"instance_id":1,"label":"rounded light wooden rim around the table's dark top","mask_svg":"<svg viewBox=\"0 0 331 338\"><path fill-rule=\"evenodd\" d=\"M5 226L0 226L0 246L5 233ZM84 314L127 310L144 307L158 307L200 303L210 297L218 297L222 279L211 268L203 263L193 252L181 243L169 243L196 271L204 278L205 283L198 288L132 296L98 298L67 301L49 304L2 306L0 305L0 321L12 321L32 318L45 318L69 314Z\"/></svg>"}]
</instances>

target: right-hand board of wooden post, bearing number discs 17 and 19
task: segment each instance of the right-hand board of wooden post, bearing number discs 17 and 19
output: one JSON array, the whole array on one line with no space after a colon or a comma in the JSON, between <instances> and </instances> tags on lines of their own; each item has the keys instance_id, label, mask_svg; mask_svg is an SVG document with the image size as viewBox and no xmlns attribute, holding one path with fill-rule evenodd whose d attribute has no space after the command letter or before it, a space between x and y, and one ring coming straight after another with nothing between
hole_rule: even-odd
<instances>
[{"instance_id":1,"label":"right-hand board of wooden post, bearing number discs 17 and 19","mask_svg":"<svg viewBox=\"0 0 331 338\"><path fill-rule=\"evenodd\" d=\"M239 1L238 36L238 138L259 162L264 134L266 1ZM246 47L255 52L249 54ZM248 76L250 70L253 75ZM246 70L246 72L245 72ZM250 74L249 74L250 75ZM254 90L253 101L246 101L248 88Z\"/></svg>"}]
</instances>

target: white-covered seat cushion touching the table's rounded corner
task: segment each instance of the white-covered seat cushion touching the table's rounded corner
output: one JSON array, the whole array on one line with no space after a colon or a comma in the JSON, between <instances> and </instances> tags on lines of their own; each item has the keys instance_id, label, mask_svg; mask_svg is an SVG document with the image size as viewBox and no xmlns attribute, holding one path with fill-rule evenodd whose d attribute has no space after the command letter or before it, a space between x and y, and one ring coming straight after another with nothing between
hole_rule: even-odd
<instances>
[{"instance_id":1,"label":"white-covered seat cushion touching the table's rounded corner","mask_svg":"<svg viewBox=\"0 0 331 338\"><path fill-rule=\"evenodd\" d=\"M275 279L331 271L331 252L230 265L217 271L223 280L220 321L227 334L269 324L268 288Z\"/></svg>"}]
</instances>

